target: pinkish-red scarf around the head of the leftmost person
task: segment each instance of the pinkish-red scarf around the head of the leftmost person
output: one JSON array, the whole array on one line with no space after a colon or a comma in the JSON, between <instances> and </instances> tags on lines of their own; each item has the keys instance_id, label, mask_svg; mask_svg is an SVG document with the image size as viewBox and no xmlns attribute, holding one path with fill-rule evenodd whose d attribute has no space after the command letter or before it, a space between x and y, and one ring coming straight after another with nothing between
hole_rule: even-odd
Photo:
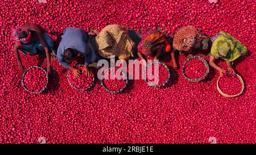
<instances>
[{"instance_id":1,"label":"pinkish-red scarf around the head of the leftmost person","mask_svg":"<svg viewBox=\"0 0 256 155\"><path fill-rule=\"evenodd\" d=\"M27 37L20 38L20 32L23 32L23 31L27 33ZM13 28L11 39L18 42L19 45L21 45L21 43L26 44L31 39L31 32L30 32L30 30L27 30L27 29L24 29L24 28Z\"/></svg>"}]
</instances>

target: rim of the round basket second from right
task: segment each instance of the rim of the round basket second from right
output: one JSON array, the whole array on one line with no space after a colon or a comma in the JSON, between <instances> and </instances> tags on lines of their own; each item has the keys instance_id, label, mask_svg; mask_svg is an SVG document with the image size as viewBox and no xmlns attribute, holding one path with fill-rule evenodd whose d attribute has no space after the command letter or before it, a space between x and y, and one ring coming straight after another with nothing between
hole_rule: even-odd
<instances>
[{"instance_id":1,"label":"rim of the round basket second from right","mask_svg":"<svg viewBox=\"0 0 256 155\"><path fill-rule=\"evenodd\" d=\"M201 78L192 79L192 78L188 78L187 75L185 74L185 65L187 64L188 61L192 60L193 58L196 58L196 59L198 59L198 60L201 60L201 61L204 63L205 68L207 68L206 73L205 73L204 76L201 77ZM183 77L184 77L185 79L187 79L188 81L191 81L191 82L199 82L199 81L202 81L203 79L205 79L205 77L208 76L209 70L210 70L210 68L209 68L208 62L207 62L203 57L200 57L200 56L189 57L189 58L184 62L184 65L182 66L182 74L183 74Z\"/></svg>"}]
</instances>

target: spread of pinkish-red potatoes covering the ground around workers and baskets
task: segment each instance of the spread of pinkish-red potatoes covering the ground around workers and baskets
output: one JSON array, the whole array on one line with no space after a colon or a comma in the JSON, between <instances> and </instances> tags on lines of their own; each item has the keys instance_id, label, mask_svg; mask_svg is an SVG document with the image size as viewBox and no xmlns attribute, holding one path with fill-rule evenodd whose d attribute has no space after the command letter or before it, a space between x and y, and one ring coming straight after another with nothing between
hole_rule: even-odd
<instances>
[{"instance_id":1,"label":"spread of pinkish-red potatoes covering the ground around workers and baskets","mask_svg":"<svg viewBox=\"0 0 256 155\"><path fill-rule=\"evenodd\" d=\"M256 2L220 0L180 1L0 1L0 143L256 143L255 10ZM20 85L11 28L37 23L60 41L66 27L101 31L108 24L133 30L160 27L171 36L192 25L209 36L229 32L249 49L236 65L245 81L241 97L225 98L216 89L218 72L204 82L173 72L166 89L136 80L122 94L106 92L100 83L91 91L72 89L67 70L51 62L54 78L46 93L30 94ZM39 63L23 56L25 68ZM179 56L179 66L186 58ZM167 63L172 66L172 61ZM226 67L224 61L218 65ZM46 62L42 64L46 66Z\"/></svg>"}]
</instances>

